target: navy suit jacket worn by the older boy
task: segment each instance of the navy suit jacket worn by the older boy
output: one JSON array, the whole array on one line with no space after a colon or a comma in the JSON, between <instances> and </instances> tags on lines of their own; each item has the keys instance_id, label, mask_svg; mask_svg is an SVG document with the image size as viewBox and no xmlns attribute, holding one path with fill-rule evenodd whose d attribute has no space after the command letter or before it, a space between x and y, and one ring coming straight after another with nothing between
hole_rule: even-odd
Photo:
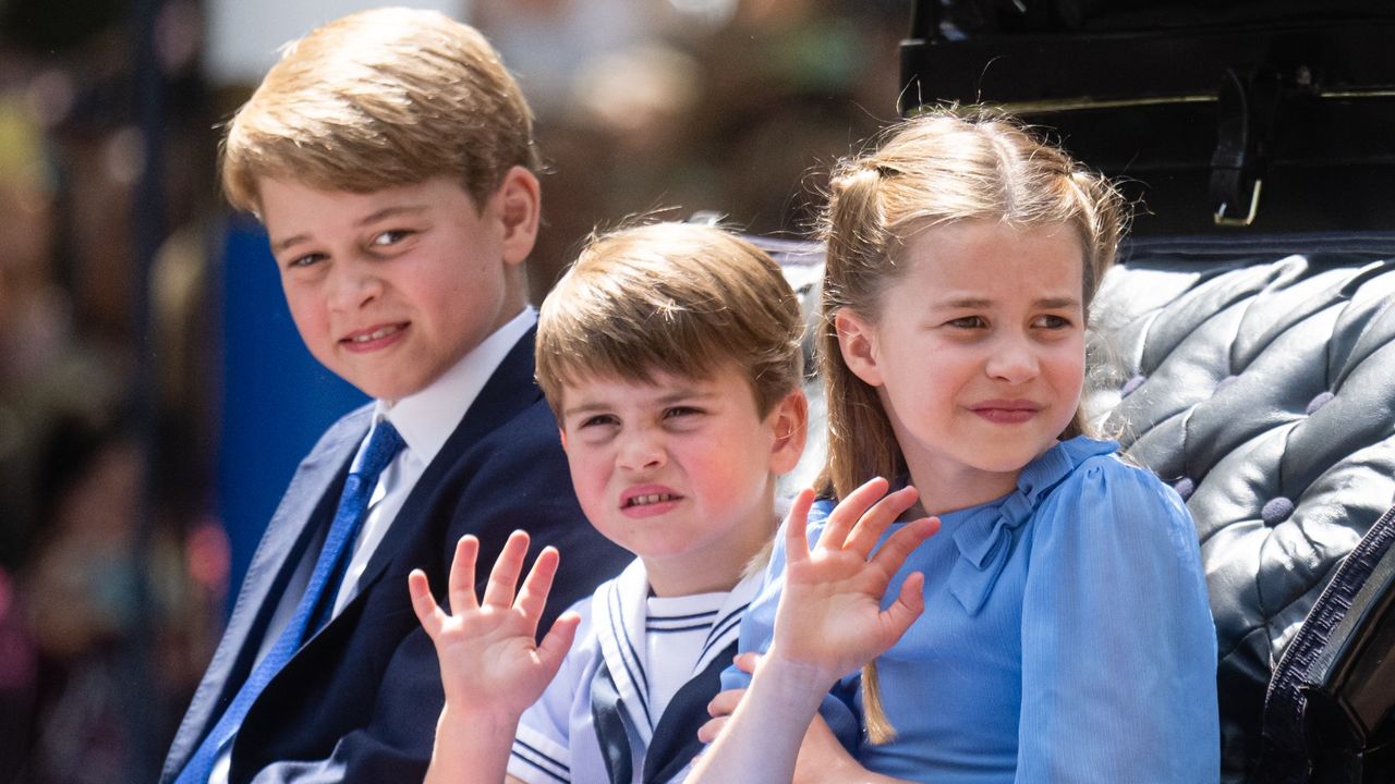
<instances>
[{"instance_id":1,"label":"navy suit jacket worn by the older boy","mask_svg":"<svg viewBox=\"0 0 1395 784\"><path fill-rule=\"evenodd\" d=\"M296 470L170 746L162 784L179 776L251 671L287 580L333 518L370 419L365 406L335 423ZM515 529L531 534L533 555L547 544L562 552L543 629L632 558L596 533L576 504L557 420L533 381L533 331L412 490L357 596L251 706L233 742L230 784L420 781L445 698L435 649L412 611L407 573L424 569L444 596L455 543L473 533L483 586Z\"/></svg>"}]
</instances>

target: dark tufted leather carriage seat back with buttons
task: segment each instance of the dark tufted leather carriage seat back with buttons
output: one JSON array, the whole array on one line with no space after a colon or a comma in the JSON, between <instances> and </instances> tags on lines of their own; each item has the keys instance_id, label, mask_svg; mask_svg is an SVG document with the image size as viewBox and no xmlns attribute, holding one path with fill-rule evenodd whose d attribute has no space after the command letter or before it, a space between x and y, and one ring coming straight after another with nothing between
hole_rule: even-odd
<instances>
[{"instance_id":1,"label":"dark tufted leather carriage seat back with buttons","mask_svg":"<svg viewBox=\"0 0 1395 784\"><path fill-rule=\"evenodd\" d=\"M1197 522L1228 783L1254 769L1285 647L1395 502L1395 262L1384 261L1395 254L1380 247L1391 243L1136 243L1091 315L1092 420ZM1321 247L1276 250L1296 244ZM812 319L817 250L767 247ZM816 381L808 392L817 420ZM820 430L788 487L817 470Z\"/></svg>"}]
</instances>

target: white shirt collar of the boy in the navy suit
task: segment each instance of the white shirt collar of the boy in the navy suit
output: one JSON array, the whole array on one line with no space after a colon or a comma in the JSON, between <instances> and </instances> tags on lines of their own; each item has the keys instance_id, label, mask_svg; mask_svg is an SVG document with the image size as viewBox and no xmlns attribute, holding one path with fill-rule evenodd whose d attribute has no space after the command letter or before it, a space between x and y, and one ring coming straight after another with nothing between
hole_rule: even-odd
<instances>
[{"instance_id":1,"label":"white shirt collar of the boy in the navy suit","mask_svg":"<svg viewBox=\"0 0 1395 784\"><path fill-rule=\"evenodd\" d=\"M534 324L537 311L527 306L425 389L407 395L396 403L377 400L372 410L374 421L388 419L402 434L407 449L430 465L504 357Z\"/></svg>"}]
</instances>

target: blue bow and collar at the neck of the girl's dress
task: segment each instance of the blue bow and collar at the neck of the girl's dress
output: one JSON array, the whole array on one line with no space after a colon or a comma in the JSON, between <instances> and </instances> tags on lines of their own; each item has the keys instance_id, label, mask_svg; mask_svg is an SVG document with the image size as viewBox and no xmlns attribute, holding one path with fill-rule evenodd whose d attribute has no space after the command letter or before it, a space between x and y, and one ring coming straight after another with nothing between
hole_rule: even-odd
<instances>
[{"instance_id":1,"label":"blue bow and collar at the neck of the girl's dress","mask_svg":"<svg viewBox=\"0 0 1395 784\"><path fill-rule=\"evenodd\" d=\"M1066 480L1081 463L1098 455L1119 451L1115 441L1084 435L1062 441L1023 469L1017 487L981 506L940 515L954 520L954 545L958 558L949 576L949 591L970 615L976 615L993 593L1011 551L1013 532L1036 512L1052 488ZM949 527L949 526L946 526Z\"/></svg>"}]
</instances>

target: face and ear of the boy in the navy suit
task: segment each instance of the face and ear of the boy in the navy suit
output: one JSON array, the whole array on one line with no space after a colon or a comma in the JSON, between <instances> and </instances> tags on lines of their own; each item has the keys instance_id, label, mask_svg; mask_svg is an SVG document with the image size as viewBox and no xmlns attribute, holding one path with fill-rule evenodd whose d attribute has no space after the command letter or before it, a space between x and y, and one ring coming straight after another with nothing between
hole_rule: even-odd
<instances>
[{"instance_id":1,"label":"face and ear of the boy in the navy suit","mask_svg":"<svg viewBox=\"0 0 1395 784\"><path fill-rule=\"evenodd\" d=\"M301 339L364 393L420 392L522 311L538 187L513 167L483 209L435 177L365 194L259 181Z\"/></svg>"}]
</instances>

